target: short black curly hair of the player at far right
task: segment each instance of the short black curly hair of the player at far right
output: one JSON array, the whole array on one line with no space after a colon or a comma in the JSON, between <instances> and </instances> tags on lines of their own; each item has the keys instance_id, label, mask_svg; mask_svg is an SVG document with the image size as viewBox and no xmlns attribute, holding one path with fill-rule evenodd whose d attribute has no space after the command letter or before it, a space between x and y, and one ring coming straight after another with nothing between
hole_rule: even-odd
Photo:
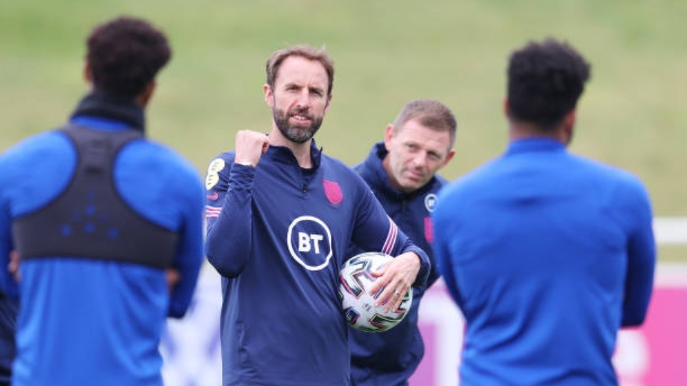
<instances>
[{"instance_id":1,"label":"short black curly hair of the player at far right","mask_svg":"<svg viewBox=\"0 0 687 386\"><path fill-rule=\"evenodd\" d=\"M590 74L591 65L566 42L529 42L509 60L510 118L552 130L575 109Z\"/></svg>"}]
</instances>

